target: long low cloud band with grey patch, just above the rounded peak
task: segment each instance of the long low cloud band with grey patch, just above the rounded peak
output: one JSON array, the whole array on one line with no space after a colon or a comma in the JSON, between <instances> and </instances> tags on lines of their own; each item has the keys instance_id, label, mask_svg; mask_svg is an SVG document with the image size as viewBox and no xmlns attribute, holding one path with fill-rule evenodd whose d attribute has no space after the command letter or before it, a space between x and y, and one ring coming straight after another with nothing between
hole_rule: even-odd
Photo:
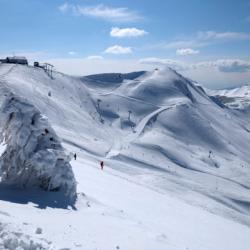
<instances>
[{"instance_id":1,"label":"long low cloud band with grey patch, just above the rounded peak","mask_svg":"<svg viewBox=\"0 0 250 250\"><path fill-rule=\"evenodd\" d=\"M180 71L198 70L201 68L213 68L224 73L250 72L250 61L240 59L219 59L214 61L187 63L167 58L150 57L141 59L139 62L142 64L164 65Z\"/></svg>"}]
</instances>

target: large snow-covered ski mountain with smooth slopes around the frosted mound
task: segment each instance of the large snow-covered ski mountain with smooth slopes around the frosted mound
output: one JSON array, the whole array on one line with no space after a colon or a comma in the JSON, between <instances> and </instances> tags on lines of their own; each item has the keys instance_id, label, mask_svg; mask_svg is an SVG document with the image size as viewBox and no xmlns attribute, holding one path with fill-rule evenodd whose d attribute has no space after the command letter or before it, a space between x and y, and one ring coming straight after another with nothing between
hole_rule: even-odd
<instances>
[{"instance_id":1,"label":"large snow-covered ski mountain with smooth slopes around the frosted mound","mask_svg":"<svg viewBox=\"0 0 250 250\"><path fill-rule=\"evenodd\" d=\"M2 187L0 234L45 249L248 249L246 113L171 69L51 79L2 64L0 83L0 103L6 93L24 98L77 154L78 182L71 210L56 193Z\"/></svg>"}]
</instances>

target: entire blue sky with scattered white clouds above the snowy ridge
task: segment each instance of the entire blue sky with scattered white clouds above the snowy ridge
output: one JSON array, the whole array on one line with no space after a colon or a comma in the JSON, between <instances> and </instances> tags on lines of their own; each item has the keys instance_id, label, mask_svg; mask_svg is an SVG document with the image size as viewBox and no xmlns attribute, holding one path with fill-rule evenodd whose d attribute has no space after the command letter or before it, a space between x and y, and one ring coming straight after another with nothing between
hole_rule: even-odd
<instances>
[{"instance_id":1,"label":"entire blue sky with scattered white clouds above the snowy ridge","mask_svg":"<svg viewBox=\"0 0 250 250\"><path fill-rule=\"evenodd\" d=\"M210 87L250 83L250 0L0 0L0 54L85 75L171 66Z\"/></svg>"}]
</instances>

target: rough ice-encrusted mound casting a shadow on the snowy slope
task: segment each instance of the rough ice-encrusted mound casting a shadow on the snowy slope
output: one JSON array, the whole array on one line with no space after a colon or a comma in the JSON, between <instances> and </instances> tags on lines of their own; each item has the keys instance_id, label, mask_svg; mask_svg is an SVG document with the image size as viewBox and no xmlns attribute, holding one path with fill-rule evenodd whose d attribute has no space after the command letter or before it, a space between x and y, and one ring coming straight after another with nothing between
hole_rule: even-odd
<instances>
[{"instance_id":1,"label":"rough ice-encrusted mound casting a shadow on the snowy slope","mask_svg":"<svg viewBox=\"0 0 250 250\"><path fill-rule=\"evenodd\" d=\"M48 120L27 100L10 94L0 112L1 182L22 188L63 191L75 198L76 181L69 157Z\"/></svg>"}]
</instances>

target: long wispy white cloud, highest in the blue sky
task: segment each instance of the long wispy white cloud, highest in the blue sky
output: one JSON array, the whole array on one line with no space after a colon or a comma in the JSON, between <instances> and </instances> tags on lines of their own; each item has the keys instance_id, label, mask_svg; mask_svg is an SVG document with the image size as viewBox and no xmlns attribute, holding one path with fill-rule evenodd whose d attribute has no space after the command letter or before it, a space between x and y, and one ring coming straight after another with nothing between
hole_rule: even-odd
<instances>
[{"instance_id":1,"label":"long wispy white cloud, highest in the blue sky","mask_svg":"<svg viewBox=\"0 0 250 250\"><path fill-rule=\"evenodd\" d=\"M59 6L59 10L63 13L73 12L76 15L101 18L114 22L133 22L142 19L136 11L131 11L126 7L116 8L103 4L95 6L81 6L65 3Z\"/></svg>"}]
</instances>

